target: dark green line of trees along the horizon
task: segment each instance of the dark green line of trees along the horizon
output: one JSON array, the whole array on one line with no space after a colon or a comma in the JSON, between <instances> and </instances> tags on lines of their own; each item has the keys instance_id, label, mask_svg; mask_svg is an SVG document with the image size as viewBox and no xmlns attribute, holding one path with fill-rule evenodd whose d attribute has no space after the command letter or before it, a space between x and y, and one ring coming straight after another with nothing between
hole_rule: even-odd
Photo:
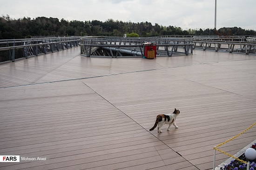
<instances>
[{"instance_id":1,"label":"dark green line of trees along the horizon","mask_svg":"<svg viewBox=\"0 0 256 170\"><path fill-rule=\"evenodd\" d=\"M163 35L256 35L254 30L240 27L216 29L182 30L177 26L162 26L150 22L123 22L108 19L78 21L58 18L36 17L31 19L11 19L9 15L0 17L0 39L25 39L31 36L128 36L155 37Z\"/></svg>"}]
</instances>

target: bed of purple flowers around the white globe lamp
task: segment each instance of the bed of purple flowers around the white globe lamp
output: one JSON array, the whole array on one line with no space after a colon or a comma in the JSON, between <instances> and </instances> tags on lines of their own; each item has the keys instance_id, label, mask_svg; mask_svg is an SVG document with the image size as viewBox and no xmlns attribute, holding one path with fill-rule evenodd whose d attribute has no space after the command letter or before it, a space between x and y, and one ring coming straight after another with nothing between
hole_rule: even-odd
<instances>
[{"instance_id":1,"label":"bed of purple flowers around the white globe lamp","mask_svg":"<svg viewBox=\"0 0 256 170\"><path fill-rule=\"evenodd\" d=\"M251 148L256 150L256 143L251 146ZM249 170L256 170L256 159L255 160L248 160L244 153L239 159L245 161L245 162L250 162ZM247 170L247 164L242 163L238 160L232 160L229 164L224 165L224 167L220 168L221 170Z\"/></svg>"}]
</instances>

